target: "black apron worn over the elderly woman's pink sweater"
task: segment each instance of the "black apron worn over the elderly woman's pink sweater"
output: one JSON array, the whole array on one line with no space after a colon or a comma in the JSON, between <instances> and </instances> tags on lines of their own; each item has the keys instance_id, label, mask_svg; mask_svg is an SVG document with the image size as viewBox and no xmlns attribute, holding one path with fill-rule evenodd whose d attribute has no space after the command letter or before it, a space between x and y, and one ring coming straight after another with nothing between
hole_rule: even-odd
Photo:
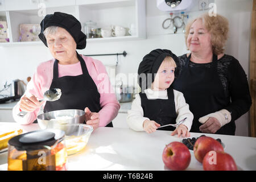
<instances>
[{"instance_id":1,"label":"black apron worn over the elderly woman's pink sweater","mask_svg":"<svg viewBox=\"0 0 256 182\"><path fill-rule=\"evenodd\" d=\"M50 89L61 89L61 97L57 101L47 101L44 113L63 109L80 109L88 107L90 111L98 113L101 110L100 93L92 77L88 73L84 59L77 53L82 75L59 77L58 60L53 64L53 79ZM113 127L112 122L107 125Z\"/></svg>"}]
</instances>

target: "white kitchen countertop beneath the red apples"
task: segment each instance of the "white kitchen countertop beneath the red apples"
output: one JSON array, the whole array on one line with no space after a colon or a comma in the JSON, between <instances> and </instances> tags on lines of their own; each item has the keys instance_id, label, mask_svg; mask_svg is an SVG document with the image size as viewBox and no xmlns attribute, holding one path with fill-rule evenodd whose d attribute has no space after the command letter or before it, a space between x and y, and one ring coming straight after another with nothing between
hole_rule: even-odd
<instances>
[{"instance_id":1,"label":"white kitchen countertop beneath the red apples","mask_svg":"<svg viewBox=\"0 0 256 182\"><path fill-rule=\"evenodd\" d=\"M38 124L18 125L0 123L0 128L21 127L24 132L39 129ZM181 141L182 138L170 135L171 131L156 131L152 134L136 132L131 129L100 127L95 130L84 150L68 156L69 170L168 170L162 160L166 144ZM201 133L191 133L199 137ZM236 161L239 170L256 170L256 138L230 135L205 134L220 138L224 150ZM85 165L86 164L86 165ZM7 170L7 152L0 154L0 170ZM191 163L187 170L203 170L191 151Z\"/></svg>"}]
</instances>

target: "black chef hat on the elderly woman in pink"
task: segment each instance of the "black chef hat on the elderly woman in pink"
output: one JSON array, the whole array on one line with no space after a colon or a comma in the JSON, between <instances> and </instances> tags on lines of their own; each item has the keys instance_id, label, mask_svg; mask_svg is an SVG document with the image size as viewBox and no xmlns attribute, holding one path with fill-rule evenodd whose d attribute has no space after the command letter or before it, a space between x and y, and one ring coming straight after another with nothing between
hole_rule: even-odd
<instances>
[{"instance_id":1,"label":"black chef hat on the elderly woman in pink","mask_svg":"<svg viewBox=\"0 0 256 182\"><path fill-rule=\"evenodd\" d=\"M48 14L40 23L41 32L38 35L44 45L47 46L46 37L44 36L44 30L50 26L57 26L65 28L72 35L76 42L77 49L84 49L86 46L86 35L81 31L81 23L73 15L55 12L54 14Z\"/></svg>"}]
</instances>

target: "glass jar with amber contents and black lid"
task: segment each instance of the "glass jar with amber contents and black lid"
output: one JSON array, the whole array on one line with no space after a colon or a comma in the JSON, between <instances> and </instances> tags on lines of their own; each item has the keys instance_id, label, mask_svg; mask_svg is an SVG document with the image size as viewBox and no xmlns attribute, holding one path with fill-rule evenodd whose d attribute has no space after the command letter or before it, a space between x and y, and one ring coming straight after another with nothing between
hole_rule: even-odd
<instances>
[{"instance_id":1,"label":"glass jar with amber contents and black lid","mask_svg":"<svg viewBox=\"0 0 256 182\"><path fill-rule=\"evenodd\" d=\"M9 171L65 171L67 148L64 131L47 129L18 135L9 140Z\"/></svg>"}]
</instances>

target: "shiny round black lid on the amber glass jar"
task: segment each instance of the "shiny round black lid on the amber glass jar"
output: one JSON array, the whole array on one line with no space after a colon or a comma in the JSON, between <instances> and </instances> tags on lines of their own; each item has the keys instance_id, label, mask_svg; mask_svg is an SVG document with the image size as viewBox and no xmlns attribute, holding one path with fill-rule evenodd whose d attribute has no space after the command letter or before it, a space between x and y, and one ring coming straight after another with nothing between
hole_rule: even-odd
<instances>
[{"instance_id":1,"label":"shiny round black lid on the amber glass jar","mask_svg":"<svg viewBox=\"0 0 256 182\"><path fill-rule=\"evenodd\" d=\"M63 139L64 134L61 130L36 130L13 137L8 143L19 151L39 150L51 147L57 140Z\"/></svg>"}]
</instances>

